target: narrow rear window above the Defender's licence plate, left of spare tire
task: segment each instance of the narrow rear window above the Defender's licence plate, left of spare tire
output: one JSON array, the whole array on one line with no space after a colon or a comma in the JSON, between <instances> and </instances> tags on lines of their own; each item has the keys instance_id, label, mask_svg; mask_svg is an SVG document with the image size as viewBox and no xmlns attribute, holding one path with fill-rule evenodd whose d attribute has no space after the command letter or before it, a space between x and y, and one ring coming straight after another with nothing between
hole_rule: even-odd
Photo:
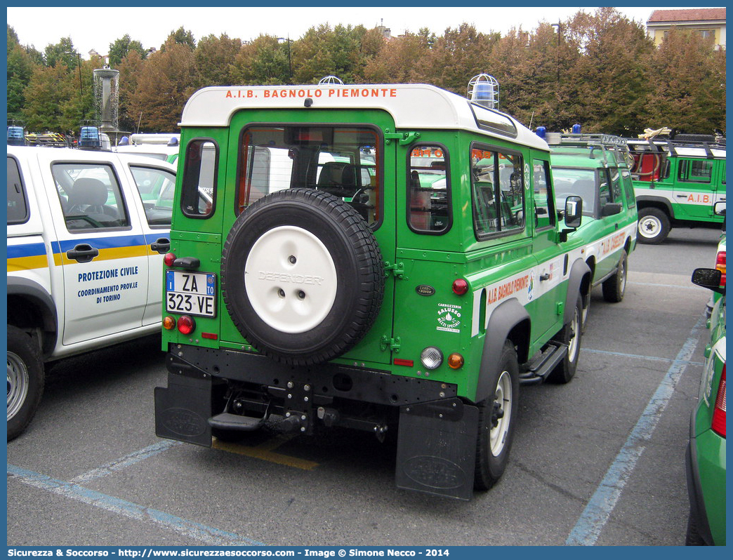
<instances>
[{"instance_id":1,"label":"narrow rear window above the Defender's licence plate, left of spare tire","mask_svg":"<svg viewBox=\"0 0 733 560\"><path fill-rule=\"evenodd\" d=\"M208 218L216 205L218 147L210 140L194 140L185 149L181 207L189 218Z\"/></svg>"}]
</instances>

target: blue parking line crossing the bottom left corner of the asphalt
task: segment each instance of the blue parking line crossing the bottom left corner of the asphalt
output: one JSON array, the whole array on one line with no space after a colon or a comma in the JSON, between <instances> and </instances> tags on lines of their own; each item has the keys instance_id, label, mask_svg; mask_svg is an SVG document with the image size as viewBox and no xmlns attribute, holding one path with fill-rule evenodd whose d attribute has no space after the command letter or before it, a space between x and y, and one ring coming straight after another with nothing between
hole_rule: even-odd
<instances>
[{"instance_id":1,"label":"blue parking line crossing the bottom left corner of the asphalt","mask_svg":"<svg viewBox=\"0 0 733 560\"><path fill-rule=\"evenodd\" d=\"M89 490L79 485L62 480L52 479L45 474L28 471L14 465L7 465L7 474L18 477L23 484L31 485L42 490L48 490L54 494L62 495L100 507L108 512L117 513L130 517L134 520L151 522L166 529L176 531L184 537L191 537L209 546L267 546L264 542L258 542L248 537L222 531L221 529L185 520L182 517L161 512L158 509L133 504L130 501L115 498L95 490Z\"/></svg>"}]
</instances>

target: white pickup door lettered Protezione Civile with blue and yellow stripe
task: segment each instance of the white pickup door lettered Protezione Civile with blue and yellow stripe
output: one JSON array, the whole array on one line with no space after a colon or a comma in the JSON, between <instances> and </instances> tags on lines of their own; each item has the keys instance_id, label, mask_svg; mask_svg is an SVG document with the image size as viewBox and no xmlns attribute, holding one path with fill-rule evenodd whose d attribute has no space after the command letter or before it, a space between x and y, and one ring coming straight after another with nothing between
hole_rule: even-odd
<instances>
[{"instance_id":1,"label":"white pickup door lettered Protezione Civile with blue and yellow stripe","mask_svg":"<svg viewBox=\"0 0 733 560\"><path fill-rule=\"evenodd\" d=\"M40 156L44 158L45 155ZM40 161L63 268L63 344L140 328L147 305L148 256L117 158Z\"/></svg>"}]
</instances>

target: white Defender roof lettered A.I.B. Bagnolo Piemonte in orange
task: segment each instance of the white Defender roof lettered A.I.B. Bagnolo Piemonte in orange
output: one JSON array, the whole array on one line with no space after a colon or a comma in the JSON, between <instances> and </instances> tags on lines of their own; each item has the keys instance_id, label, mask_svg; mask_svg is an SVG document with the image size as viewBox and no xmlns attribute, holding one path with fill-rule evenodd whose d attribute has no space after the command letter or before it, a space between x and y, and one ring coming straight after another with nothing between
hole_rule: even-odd
<instances>
[{"instance_id":1,"label":"white Defender roof lettered A.I.B. Bagnolo Piemonte in orange","mask_svg":"<svg viewBox=\"0 0 733 560\"><path fill-rule=\"evenodd\" d=\"M377 108L391 114L401 130L462 129L548 150L548 144L516 119L465 97L427 84L325 84L318 86L216 86L199 89L185 104L180 126L228 126L241 109ZM473 109L473 110L472 110ZM475 116L474 116L475 115ZM479 128L477 119L487 123ZM488 128L488 130L487 130ZM516 136L495 132L514 128Z\"/></svg>"}]
</instances>

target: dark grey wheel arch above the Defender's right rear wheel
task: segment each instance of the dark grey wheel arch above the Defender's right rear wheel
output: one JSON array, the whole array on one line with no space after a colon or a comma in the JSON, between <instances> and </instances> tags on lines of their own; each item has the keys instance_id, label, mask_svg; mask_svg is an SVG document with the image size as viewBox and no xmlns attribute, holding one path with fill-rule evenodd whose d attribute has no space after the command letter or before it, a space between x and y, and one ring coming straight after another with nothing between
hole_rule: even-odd
<instances>
[{"instance_id":1,"label":"dark grey wheel arch above the Defender's right rear wheel","mask_svg":"<svg viewBox=\"0 0 733 560\"><path fill-rule=\"evenodd\" d=\"M528 360L530 332L529 313L516 298L504 301L494 309L486 328L479 380L476 383L476 402L490 396L505 340L511 340L517 348L517 361L520 364Z\"/></svg>"}]
</instances>

